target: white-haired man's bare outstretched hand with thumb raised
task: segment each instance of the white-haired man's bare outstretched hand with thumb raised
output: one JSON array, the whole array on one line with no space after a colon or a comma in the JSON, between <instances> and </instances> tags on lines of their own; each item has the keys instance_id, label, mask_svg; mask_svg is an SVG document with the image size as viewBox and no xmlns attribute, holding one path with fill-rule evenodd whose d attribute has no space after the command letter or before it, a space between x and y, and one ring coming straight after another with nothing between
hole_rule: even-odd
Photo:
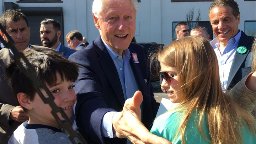
<instances>
[{"instance_id":1,"label":"white-haired man's bare outstretched hand with thumb raised","mask_svg":"<svg viewBox=\"0 0 256 144\"><path fill-rule=\"evenodd\" d=\"M126 100L123 111L113 115L112 124L118 138L129 138L133 144L171 144L168 140L151 134L140 122L140 104L143 96L140 91Z\"/></svg>"}]
</instances>

